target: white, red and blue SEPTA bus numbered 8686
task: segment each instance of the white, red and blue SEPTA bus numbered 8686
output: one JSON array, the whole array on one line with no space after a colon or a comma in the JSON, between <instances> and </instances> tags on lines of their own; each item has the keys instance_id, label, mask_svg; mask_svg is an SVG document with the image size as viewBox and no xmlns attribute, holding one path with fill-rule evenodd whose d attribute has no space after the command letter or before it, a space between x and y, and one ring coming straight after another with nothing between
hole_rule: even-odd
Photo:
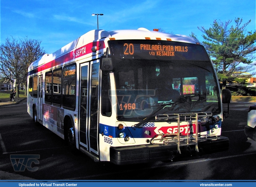
<instances>
[{"instance_id":1,"label":"white, red and blue SEPTA bus numbered 8686","mask_svg":"<svg viewBox=\"0 0 256 187\"><path fill-rule=\"evenodd\" d=\"M145 28L92 30L28 68L34 122L117 165L228 149L230 98L199 41Z\"/></svg>"}]
</instances>

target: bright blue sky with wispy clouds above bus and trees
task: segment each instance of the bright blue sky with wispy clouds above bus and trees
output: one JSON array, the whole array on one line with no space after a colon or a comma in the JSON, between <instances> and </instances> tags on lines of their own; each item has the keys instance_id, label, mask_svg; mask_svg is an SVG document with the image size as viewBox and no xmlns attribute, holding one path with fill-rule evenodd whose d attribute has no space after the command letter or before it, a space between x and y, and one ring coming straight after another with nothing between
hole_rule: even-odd
<instances>
[{"instance_id":1,"label":"bright blue sky with wispy clouds above bus and trees","mask_svg":"<svg viewBox=\"0 0 256 187\"><path fill-rule=\"evenodd\" d=\"M215 19L243 23L255 31L255 0L2 0L1 43L7 37L36 39L53 53L86 32L162 28L173 34L203 34L197 27L211 27ZM234 23L234 21L232 22Z\"/></svg>"}]
</instances>

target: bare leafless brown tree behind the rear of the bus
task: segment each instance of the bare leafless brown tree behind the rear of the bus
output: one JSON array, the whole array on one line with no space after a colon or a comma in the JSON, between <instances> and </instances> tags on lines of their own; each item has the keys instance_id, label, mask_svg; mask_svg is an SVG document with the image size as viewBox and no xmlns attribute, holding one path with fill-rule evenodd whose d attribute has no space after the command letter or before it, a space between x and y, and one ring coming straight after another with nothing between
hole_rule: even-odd
<instances>
[{"instance_id":1,"label":"bare leafless brown tree behind the rear of the bus","mask_svg":"<svg viewBox=\"0 0 256 187\"><path fill-rule=\"evenodd\" d=\"M26 83L28 66L45 54L40 44L41 41L28 38L24 40L7 38L0 46L1 79L8 79L12 82L16 79L16 85L14 85L16 90L20 83Z\"/></svg>"}]
</instances>

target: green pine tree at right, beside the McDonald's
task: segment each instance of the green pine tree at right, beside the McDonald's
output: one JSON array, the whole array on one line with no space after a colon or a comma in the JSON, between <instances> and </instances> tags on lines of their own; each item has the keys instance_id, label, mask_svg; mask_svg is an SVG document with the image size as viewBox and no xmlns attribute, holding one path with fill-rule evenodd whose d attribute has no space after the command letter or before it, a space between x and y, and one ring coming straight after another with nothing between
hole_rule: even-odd
<instances>
[{"instance_id":1,"label":"green pine tree at right, beside the McDonald's","mask_svg":"<svg viewBox=\"0 0 256 187\"><path fill-rule=\"evenodd\" d=\"M244 74L254 70L253 59L256 52L256 32L247 32L246 26L251 22L242 24L242 19L236 18L235 24L230 25L232 20L225 22L215 20L212 27L201 30L205 49L212 57L215 69L222 87L228 83L244 83L254 74ZM194 33L191 37L196 38Z\"/></svg>"}]
</instances>

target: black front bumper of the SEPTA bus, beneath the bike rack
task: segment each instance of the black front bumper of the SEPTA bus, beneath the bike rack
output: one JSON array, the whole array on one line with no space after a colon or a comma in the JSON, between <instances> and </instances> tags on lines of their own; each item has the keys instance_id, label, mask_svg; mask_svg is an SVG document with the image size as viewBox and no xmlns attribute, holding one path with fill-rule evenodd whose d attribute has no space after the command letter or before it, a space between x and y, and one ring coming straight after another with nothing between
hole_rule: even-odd
<instances>
[{"instance_id":1,"label":"black front bumper of the SEPTA bus, beneath the bike rack","mask_svg":"<svg viewBox=\"0 0 256 187\"><path fill-rule=\"evenodd\" d=\"M204 139L198 141L198 148L203 152L224 151L228 150L228 147L229 139L223 136L218 137L217 140ZM175 143L110 147L110 161L117 165L125 165L170 160L177 153L177 149Z\"/></svg>"}]
</instances>

